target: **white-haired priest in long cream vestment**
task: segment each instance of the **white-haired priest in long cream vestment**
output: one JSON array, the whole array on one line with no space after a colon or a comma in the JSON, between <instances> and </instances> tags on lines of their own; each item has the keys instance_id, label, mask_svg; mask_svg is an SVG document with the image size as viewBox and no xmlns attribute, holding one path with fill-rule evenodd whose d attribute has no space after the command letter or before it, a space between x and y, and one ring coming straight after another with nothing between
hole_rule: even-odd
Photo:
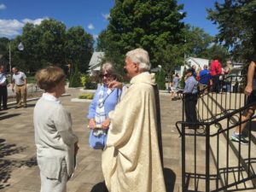
<instances>
[{"instance_id":1,"label":"white-haired priest in long cream vestment","mask_svg":"<svg viewBox=\"0 0 256 192\"><path fill-rule=\"evenodd\" d=\"M109 192L166 192L148 52L129 51L125 69L131 85L109 113L111 125L102 153L105 183Z\"/></svg>"}]
</instances>

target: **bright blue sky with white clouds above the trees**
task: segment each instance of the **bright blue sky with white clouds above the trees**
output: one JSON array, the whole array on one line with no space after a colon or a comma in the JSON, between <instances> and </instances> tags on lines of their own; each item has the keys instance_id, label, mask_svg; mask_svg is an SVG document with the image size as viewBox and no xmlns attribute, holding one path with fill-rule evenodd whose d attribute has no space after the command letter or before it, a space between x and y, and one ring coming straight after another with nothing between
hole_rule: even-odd
<instances>
[{"instance_id":1,"label":"bright blue sky with white clouds above the trees","mask_svg":"<svg viewBox=\"0 0 256 192\"><path fill-rule=\"evenodd\" d=\"M184 3L185 23L199 26L207 33L218 33L217 26L207 20L206 8L214 0L177 0ZM223 0L218 0L223 2ZM47 18L61 20L67 27L83 26L86 32L97 35L108 26L109 10L114 0L0 0L0 37L15 38L26 22L39 24Z\"/></svg>"}]
</instances>

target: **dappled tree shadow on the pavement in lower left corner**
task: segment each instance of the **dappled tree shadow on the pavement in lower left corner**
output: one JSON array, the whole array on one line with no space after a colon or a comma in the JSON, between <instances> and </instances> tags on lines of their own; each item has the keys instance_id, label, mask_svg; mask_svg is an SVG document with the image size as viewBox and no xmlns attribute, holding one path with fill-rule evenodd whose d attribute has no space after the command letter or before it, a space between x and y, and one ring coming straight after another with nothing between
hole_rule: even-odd
<instances>
[{"instance_id":1,"label":"dappled tree shadow on the pavement in lower left corner","mask_svg":"<svg viewBox=\"0 0 256 192\"><path fill-rule=\"evenodd\" d=\"M5 157L12 154L20 154L26 148L17 147L15 144L5 142L5 139L0 138L0 190L9 187L8 180L11 177L11 172L15 168L21 166L37 166L36 157L30 160L6 160Z\"/></svg>"}]
</instances>

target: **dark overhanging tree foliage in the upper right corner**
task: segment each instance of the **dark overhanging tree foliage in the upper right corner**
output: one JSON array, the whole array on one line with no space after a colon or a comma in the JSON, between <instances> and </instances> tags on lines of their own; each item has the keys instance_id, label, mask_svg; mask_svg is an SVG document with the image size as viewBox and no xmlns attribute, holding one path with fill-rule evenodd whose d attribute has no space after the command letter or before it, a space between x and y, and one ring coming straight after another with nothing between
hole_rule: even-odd
<instances>
[{"instance_id":1,"label":"dark overhanging tree foliage in the upper right corner","mask_svg":"<svg viewBox=\"0 0 256 192\"><path fill-rule=\"evenodd\" d=\"M247 61L256 51L256 1L226 0L207 9L208 19L218 24L218 42L231 49L236 60Z\"/></svg>"}]
</instances>

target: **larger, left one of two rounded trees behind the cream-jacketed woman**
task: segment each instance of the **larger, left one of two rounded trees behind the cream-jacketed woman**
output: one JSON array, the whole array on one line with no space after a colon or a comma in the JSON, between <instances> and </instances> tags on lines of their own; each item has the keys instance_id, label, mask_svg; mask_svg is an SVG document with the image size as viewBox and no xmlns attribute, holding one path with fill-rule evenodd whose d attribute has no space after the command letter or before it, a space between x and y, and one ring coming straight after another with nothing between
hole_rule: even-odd
<instances>
[{"instance_id":1,"label":"larger, left one of two rounded trees behind the cream-jacketed woman","mask_svg":"<svg viewBox=\"0 0 256 192\"><path fill-rule=\"evenodd\" d=\"M27 23L23 33L12 41L14 65L26 72L36 72L50 64L65 67L65 32L66 26L57 20L43 20L40 25ZM18 44L24 50L17 49Z\"/></svg>"}]
</instances>

